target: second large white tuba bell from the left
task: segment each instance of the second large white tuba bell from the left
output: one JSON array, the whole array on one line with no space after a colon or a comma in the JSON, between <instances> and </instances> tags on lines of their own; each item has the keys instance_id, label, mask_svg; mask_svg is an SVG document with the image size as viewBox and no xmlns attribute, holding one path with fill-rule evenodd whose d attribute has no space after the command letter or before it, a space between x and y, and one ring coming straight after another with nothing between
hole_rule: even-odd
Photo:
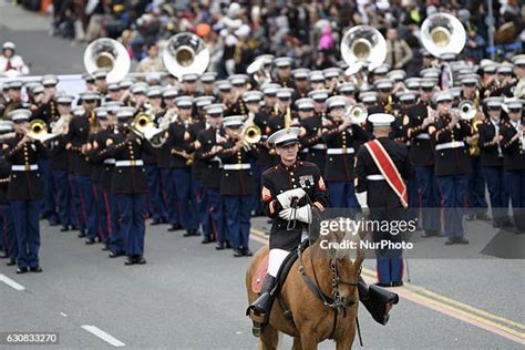
<instances>
[{"instance_id":1,"label":"second large white tuba bell from the left","mask_svg":"<svg viewBox=\"0 0 525 350\"><path fill-rule=\"evenodd\" d=\"M184 74L203 74L209 64L209 50L196 34L183 32L168 39L162 52L166 70L178 80Z\"/></svg>"}]
</instances>

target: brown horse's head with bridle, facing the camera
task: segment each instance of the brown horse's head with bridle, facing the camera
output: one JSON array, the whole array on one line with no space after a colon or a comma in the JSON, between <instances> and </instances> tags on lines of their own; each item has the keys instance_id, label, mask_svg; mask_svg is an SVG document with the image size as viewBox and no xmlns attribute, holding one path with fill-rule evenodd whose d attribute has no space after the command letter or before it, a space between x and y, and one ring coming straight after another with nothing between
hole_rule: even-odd
<instances>
[{"instance_id":1,"label":"brown horse's head with bridle, facing the camera","mask_svg":"<svg viewBox=\"0 0 525 350\"><path fill-rule=\"evenodd\" d=\"M347 225L333 225L338 229L331 229L320 239L321 247L326 248L325 258L329 260L330 276L333 289L337 289L339 301L346 306L357 302L357 284L361 265L364 260L364 251L360 246L361 236L364 236L357 225L349 225L351 220L343 218ZM342 223L341 218L332 219ZM328 226L330 227L330 226Z\"/></svg>"}]
</instances>

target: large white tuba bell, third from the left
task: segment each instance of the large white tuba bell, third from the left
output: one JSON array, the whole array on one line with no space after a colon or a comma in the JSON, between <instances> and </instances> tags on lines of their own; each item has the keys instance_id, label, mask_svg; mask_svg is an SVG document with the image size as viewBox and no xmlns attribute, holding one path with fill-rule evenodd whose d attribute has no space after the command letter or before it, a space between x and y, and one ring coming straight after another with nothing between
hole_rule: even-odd
<instances>
[{"instance_id":1,"label":"large white tuba bell, third from the left","mask_svg":"<svg viewBox=\"0 0 525 350\"><path fill-rule=\"evenodd\" d=\"M387 41L373 27L352 27L342 37L341 58L349 66L347 75L359 72L363 66L373 70L387 59Z\"/></svg>"}]
</instances>

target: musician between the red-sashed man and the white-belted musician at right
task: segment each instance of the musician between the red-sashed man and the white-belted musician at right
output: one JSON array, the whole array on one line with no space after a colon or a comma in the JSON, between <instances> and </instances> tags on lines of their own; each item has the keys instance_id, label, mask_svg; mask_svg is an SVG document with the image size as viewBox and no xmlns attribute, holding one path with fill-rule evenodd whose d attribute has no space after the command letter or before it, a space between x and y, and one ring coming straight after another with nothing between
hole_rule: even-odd
<instances>
[{"instance_id":1,"label":"musician between the red-sashed man and the white-belted musician at right","mask_svg":"<svg viewBox=\"0 0 525 350\"><path fill-rule=\"evenodd\" d=\"M421 80L419 102L406 111L409 124L406 136L410 141L410 162L421 194L423 237L441 236L441 193L435 178L435 153L429 134L433 116L429 109L437 82L433 79Z\"/></svg>"}]
</instances>

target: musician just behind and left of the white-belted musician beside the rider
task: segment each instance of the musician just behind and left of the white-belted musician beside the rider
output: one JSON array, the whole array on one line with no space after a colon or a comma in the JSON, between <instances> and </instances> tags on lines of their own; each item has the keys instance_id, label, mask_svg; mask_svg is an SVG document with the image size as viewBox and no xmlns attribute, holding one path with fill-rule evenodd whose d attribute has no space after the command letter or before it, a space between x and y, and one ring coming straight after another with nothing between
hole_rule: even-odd
<instances>
[{"instance_id":1,"label":"musician just behind and left of the white-belted musician beside the rider","mask_svg":"<svg viewBox=\"0 0 525 350\"><path fill-rule=\"evenodd\" d=\"M216 241L217 249L224 249L229 240L225 235L223 200L220 197L222 161L217 154L222 151L219 143L224 143L225 134L222 128L224 105L208 104L205 107L206 123L209 127L197 135L195 157L204 162L202 185L207 198L207 207L202 219L203 244Z\"/></svg>"}]
</instances>

